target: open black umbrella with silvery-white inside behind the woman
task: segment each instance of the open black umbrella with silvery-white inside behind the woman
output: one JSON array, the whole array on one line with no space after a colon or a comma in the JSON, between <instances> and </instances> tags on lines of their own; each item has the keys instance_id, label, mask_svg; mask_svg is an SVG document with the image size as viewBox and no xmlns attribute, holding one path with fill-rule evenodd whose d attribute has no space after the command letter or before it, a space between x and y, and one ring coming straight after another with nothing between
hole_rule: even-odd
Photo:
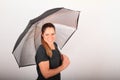
<instances>
[{"instance_id":1,"label":"open black umbrella with silvery-white inside behind the woman","mask_svg":"<svg viewBox=\"0 0 120 80\"><path fill-rule=\"evenodd\" d=\"M62 49L78 26L79 11L54 8L29 21L13 49L19 67L35 65L36 50L41 44L41 26L51 22L56 27L56 43Z\"/></svg>"}]
</instances>

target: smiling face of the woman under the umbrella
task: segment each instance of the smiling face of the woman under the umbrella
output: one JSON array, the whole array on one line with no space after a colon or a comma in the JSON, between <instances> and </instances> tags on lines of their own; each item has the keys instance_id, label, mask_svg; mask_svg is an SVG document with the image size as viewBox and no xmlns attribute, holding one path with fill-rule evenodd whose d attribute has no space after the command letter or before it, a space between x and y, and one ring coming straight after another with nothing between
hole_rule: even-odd
<instances>
[{"instance_id":1,"label":"smiling face of the woman under the umbrella","mask_svg":"<svg viewBox=\"0 0 120 80\"><path fill-rule=\"evenodd\" d=\"M54 28L52 28L52 27L46 28L44 33L42 34L42 37L48 44L53 44L53 42L55 41Z\"/></svg>"}]
</instances>

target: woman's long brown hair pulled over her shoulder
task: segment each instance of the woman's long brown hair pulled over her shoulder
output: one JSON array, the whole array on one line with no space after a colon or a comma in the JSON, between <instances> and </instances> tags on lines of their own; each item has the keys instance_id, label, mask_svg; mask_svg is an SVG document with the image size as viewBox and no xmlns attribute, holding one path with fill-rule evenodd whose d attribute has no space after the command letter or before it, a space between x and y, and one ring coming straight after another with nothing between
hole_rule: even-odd
<instances>
[{"instance_id":1,"label":"woman's long brown hair pulled over her shoulder","mask_svg":"<svg viewBox=\"0 0 120 80\"><path fill-rule=\"evenodd\" d=\"M42 34L44 34L44 32L47 28L53 28L55 30L55 26L52 23L45 23L41 29ZM44 41L42 34L41 34L41 43L42 43L43 47L45 48L47 55L49 57L52 57L52 50L49 47L49 45L47 44L47 42Z\"/></svg>"}]
</instances>

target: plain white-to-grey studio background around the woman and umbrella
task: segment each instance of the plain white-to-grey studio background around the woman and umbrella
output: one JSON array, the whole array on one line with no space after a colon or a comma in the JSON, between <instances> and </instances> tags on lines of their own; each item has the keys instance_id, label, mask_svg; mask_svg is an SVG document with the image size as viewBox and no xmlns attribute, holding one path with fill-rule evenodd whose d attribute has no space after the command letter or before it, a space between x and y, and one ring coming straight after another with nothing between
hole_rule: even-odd
<instances>
[{"instance_id":1,"label":"plain white-to-grey studio background around the woman and umbrella","mask_svg":"<svg viewBox=\"0 0 120 80\"><path fill-rule=\"evenodd\" d=\"M33 19L48 9L81 11L78 30L62 52L71 64L62 80L120 80L119 0L0 0L0 80L35 80L36 66L19 68L13 47Z\"/></svg>"}]
</instances>

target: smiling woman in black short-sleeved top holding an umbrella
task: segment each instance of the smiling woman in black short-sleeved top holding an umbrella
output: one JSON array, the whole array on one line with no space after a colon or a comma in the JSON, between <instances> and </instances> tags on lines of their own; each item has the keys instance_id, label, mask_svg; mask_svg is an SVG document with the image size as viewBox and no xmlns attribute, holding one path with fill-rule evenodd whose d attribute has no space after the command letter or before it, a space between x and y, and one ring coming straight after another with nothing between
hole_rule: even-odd
<instances>
[{"instance_id":1,"label":"smiling woman in black short-sleeved top holding an umbrella","mask_svg":"<svg viewBox=\"0 0 120 80\"><path fill-rule=\"evenodd\" d=\"M35 59L37 64L37 80L61 80L60 72L70 63L68 57L61 54L55 43L55 27L46 23L41 29L41 45Z\"/></svg>"}]
</instances>

